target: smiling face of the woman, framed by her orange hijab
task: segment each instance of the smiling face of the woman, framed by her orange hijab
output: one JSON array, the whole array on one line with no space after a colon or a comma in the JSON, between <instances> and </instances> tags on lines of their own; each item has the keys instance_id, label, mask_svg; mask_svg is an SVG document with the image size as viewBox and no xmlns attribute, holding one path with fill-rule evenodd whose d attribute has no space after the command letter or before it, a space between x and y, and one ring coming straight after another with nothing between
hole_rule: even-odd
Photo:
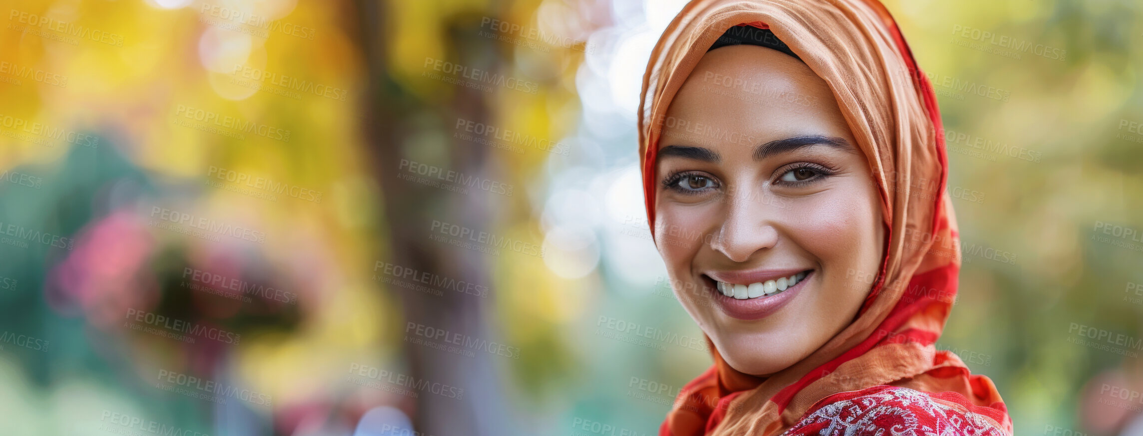
<instances>
[{"instance_id":1,"label":"smiling face of the woman, framed by her orange hijab","mask_svg":"<svg viewBox=\"0 0 1143 436\"><path fill-rule=\"evenodd\" d=\"M825 81L768 48L711 50L671 103L655 242L734 369L785 369L856 316L885 235L856 144Z\"/></svg>"}]
</instances>

